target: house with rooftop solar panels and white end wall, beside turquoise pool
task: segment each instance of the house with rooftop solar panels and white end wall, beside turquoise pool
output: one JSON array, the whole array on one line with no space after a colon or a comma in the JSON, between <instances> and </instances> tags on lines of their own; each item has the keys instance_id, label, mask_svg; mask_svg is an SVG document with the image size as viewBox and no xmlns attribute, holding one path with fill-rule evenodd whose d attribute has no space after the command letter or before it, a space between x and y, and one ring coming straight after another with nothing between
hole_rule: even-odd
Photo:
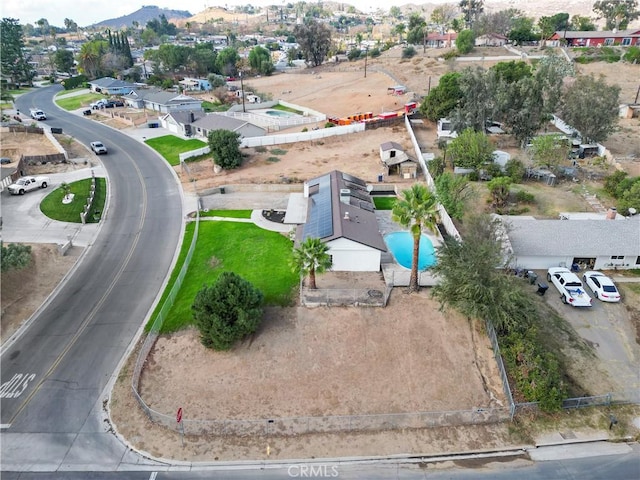
<instances>
[{"instance_id":1,"label":"house with rooftop solar panels and white end wall, beside turquoise pool","mask_svg":"<svg viewBox=\"0 0 640 480\"><path fill-rule=\"evenodd\" d=\"M319 238L329 247L332 270L377 272L387 251L367 184L334 170L304 184L306 221L296 230L296 243Z\"/></svg>"}]
</instances>

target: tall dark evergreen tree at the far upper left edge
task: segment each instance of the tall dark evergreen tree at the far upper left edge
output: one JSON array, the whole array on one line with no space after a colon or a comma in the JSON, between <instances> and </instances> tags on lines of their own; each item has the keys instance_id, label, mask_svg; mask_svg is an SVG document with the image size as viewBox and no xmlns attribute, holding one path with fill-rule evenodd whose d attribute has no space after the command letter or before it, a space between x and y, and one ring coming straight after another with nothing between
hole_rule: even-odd
<instances>
[{"instance_id":1,"label":"tall dark evergreen tree at the far upper left edge","mask_svg":"<svg viewBox=\"0 0 640 480\"><path fill-rule=\"evenodd\" d=\"M3 18L0 22L0 66L2 75L9 78L12 86L20 83L31 85L35 76L24 46L24 34L18 20Z\"/></svg>"}]
</instances>

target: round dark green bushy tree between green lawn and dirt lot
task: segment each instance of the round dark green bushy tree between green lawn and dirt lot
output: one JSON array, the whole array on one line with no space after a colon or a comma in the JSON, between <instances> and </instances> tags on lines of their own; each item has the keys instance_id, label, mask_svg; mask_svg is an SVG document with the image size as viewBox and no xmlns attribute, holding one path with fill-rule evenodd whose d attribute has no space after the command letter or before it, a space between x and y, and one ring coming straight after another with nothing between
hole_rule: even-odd
<instances>
[{"instance_id":1,"label":"round dark green bushy tree between green lawn and dirt lot","mask_svg":"<svg viewBox=\"0 0 640 480\"><path fill-rule=\"evenodd\" d=\"M223 272L213 285L205 285L191 305L200 340L207 348L229 350L254 333L262 320L260 290L233 272Z\"/></svg>"}]
</instances>

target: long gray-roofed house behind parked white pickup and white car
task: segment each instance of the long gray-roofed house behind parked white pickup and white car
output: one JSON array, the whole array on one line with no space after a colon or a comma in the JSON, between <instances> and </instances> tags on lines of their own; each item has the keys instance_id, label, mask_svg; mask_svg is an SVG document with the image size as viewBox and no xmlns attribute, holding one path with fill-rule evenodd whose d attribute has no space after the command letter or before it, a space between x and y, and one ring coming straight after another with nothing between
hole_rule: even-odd
<instances>
[{"instance_id":1,"label":"long gray-roofed house behind parked white pickup and white car","mask_svg":"<svg viewBox=\"0 0 640 480\"><path fill-rule=\"evenodd\" d=\"M595 270L640 268L640 216L563 214L560 220L500 217L513 265L527 270L573 264Z\"/></svg>"}]
</instances>

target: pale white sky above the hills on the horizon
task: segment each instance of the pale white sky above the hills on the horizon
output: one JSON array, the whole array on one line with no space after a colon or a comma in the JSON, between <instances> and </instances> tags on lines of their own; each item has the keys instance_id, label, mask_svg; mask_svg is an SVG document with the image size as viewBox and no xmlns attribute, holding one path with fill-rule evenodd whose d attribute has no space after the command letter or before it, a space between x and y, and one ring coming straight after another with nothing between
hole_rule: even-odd
<instances>
[{"instance_id":1,"label":"pale white sky above the hills on the horizon","mask_svg":"<svg viewBox=\"0 0 640 480\"><path fill-rule=\"evenodd\" d=\"M171 8L175 10L187 10L192 14L199 13L207 7L234 5L265 6L295 3L293 0L283 2L282 0L231 0L231 1L205 1L205 0L115 0L105 2L104 0L2 0L0 12L2 18L17 18L19 23L31 23L45 18L50 25L64 27L64 19L69 18L79 26L85 27L93 23L117 18L135 12L143 5L155 5L160 8ZM453 3L455 0L428 0L429 3ZM308 3L312 3L309 1ZM377 8L388 10L391 6L405 5L412 3L410 0L351 0L346 2L363 12L371 12ZM420 2L415 2L420 3Z\"/></svg>"}]
</instances>

